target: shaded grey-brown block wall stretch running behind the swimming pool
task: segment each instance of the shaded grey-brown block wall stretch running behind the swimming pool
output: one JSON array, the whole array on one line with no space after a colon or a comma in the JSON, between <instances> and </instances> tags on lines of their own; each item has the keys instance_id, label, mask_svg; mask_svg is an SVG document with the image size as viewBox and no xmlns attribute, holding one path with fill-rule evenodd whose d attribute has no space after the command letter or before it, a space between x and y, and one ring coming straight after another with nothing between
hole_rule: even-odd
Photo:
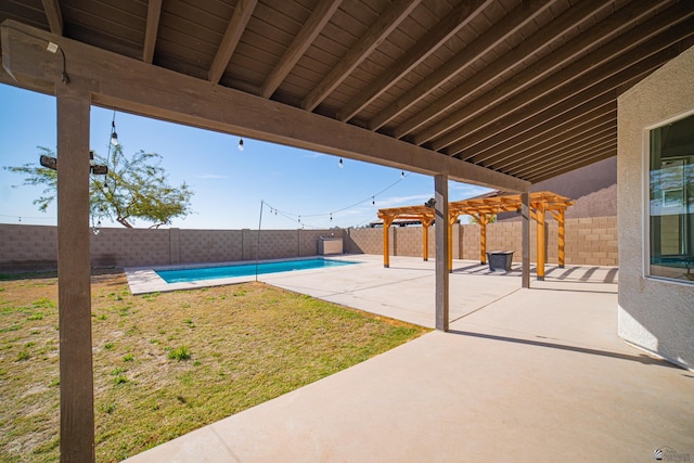
<instances>
[{"instance_id":1,"label":"shaded grey-brown block wall stretch running behind the swimming pool","mask_svg":"<svg viewBox=\"0 0 694 463\"><path fill-rule=\"evenodd\" d=\"M261 230L257 257L316 256L320 236L342 235L342 230ZM257 230L104 228L91 235L89 247L92 267L108 268L253 260L257 245ZM0 224L0 272L56 268L55 227Z\"/></svg>"}]
</instances>

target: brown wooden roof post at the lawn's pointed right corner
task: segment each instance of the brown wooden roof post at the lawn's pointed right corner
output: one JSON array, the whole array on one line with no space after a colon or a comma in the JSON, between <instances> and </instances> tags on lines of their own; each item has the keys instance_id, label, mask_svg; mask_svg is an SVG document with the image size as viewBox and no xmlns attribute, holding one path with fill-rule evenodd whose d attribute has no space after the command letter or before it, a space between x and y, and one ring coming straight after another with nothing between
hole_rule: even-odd
<instances>
[{"instance_id":1,"label":"brown wooden roof post at the lawn's pointed right corner","mask_svg":"<svg viewBox=\"0 0 694 463\"><path fill-rule=\"evenodd\" d=\"M449 306L448 286L449 272L449 232L448 216L448 175L439 173L434 177L435 210L436 210L436 330L448 331Z\"/></svg>"}]
</instances>

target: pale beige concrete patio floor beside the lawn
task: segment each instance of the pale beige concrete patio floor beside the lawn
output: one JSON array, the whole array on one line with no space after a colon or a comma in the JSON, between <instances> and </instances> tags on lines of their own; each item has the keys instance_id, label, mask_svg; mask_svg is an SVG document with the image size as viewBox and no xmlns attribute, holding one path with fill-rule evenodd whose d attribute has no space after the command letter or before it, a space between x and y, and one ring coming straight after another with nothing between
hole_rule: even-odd
<instances>
[{"instance_id":1,"label":"pale beige concrete patio floor beside the lawn","mask_svg":"<svg viewBox=\"0 0 694 463\"><path fill-rule=\"evenodd\" d=\"M380 256L264 281L434 321L434 262ZM694 373L619 339L616 271L519 272L455 261L451 331L205 426L140 462L664 461L694 459ZM359 269L355 271L355 269Z\"/></svg>"}]
</instances>

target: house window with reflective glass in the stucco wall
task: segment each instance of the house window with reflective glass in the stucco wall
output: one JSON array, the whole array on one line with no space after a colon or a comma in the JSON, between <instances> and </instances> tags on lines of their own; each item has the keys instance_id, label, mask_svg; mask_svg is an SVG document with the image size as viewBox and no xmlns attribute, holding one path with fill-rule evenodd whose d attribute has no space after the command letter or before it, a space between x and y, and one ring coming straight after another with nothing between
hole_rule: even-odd
<instances>
[{"instance_id":1,"label":"house window with reflective glass in the stucco wall","mask_svg":"<svg viewBox=\"0 0 694 463\"><path fill-rule=\"evenodd\" d=\"M648 274L694 283L694 115L651 130Z\"/></svg>"}]
</instances>

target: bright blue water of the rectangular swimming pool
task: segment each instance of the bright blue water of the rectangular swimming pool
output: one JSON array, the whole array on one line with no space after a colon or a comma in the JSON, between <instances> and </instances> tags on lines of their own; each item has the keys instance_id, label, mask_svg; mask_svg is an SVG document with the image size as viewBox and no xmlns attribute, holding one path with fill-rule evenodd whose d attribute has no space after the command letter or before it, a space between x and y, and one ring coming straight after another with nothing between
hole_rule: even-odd
<instances>
[{"instance_id":1,"label":"bright blue water of the rectangular swimming pool","mask_svg":"<svg viewBox=\"0 0 694 463\"><path fill-rule=\"evenodd\" d=\"M330 259L301 259L285 260L281 262L258 263L258 274L290 272L294 270L322 269L325 267L349 266L344 260ZM156 270L156 273L167 283L182 283L200 280L216 280L233 276L249 276L256 274L256 263L242 263L227 267L201 267L196 269Z\"/></svg>"}]
</instances>

